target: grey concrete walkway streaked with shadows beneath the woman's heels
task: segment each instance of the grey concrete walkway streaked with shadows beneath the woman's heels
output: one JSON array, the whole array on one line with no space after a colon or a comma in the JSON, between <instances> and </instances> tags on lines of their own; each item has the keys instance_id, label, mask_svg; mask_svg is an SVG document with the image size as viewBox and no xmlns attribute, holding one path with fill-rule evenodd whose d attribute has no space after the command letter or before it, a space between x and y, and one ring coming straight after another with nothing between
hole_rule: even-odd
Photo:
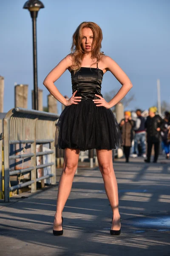
<instances>
[{"instance_id":1,"label":"grey concrete walkway streaked with shadows beneath the woman's heels","mask_svg":"<svg viewBox=\"0 0 170 256\"><path fill-rule=\"evenodd\" d=\"M82 163L80 163L82 164ZM112 212L98 168L79 167L63 217L52 234L58 186L0 204L0 255L170 255L170 161L115 161L121 235L111 236ZM59 180L60 170L57 180ZM28 194L27 194L28 195ZM21 195L23 196L23 195Z\"/></svg>"}]
</instances>

